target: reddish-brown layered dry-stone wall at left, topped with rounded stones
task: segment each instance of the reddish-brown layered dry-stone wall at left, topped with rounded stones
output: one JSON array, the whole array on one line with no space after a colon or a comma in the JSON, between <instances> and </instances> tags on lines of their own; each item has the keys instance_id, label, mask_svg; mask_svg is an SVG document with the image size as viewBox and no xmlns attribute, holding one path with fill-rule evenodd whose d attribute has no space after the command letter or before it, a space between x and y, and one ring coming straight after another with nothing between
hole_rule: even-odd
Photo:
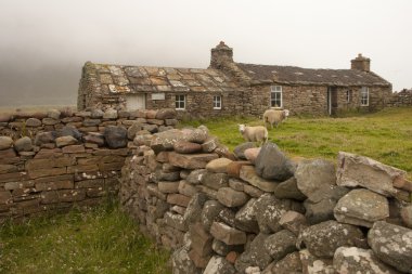
<instances>
[{"instance_id":1,"label":"reddish-brown layered dry-stone wall at left, topped with rounded stones","mask_svg":"<svg viewBox=\"0 0 412 274\"><path fill-rule=\"evenodd\" d=\"M99 204L117 194L132 140L171 129L173 109L0 117L0 221Z\"/></svg>"}]
</instances>

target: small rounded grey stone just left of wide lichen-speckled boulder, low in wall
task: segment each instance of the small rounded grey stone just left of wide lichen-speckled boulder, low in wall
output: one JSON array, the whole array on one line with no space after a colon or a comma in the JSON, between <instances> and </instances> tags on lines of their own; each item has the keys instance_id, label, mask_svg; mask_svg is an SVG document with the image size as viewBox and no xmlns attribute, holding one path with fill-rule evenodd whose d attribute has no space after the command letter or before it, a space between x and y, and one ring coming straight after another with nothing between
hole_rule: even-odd
<instances>
[{"instance_id":1,"label":"small rounded grey stone just left of wide lichen-speckled boulder, low in wall","mask_svg":"<svg viewBox=\"0 0 412 274\"><path fill-rule=\"evenodd\" d=\"M265 240L265 248L268 250L274 262L283 259L286 255L296 251L296 236L287 230L270 235Z\"/></svg>"}]
</instances>

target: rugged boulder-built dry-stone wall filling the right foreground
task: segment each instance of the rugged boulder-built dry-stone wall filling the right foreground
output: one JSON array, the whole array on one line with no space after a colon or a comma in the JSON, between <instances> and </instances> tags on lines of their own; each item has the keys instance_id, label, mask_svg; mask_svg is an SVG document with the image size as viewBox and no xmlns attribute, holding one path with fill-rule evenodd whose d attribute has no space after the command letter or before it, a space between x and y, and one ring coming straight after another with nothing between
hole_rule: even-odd
<instances>
[{"instance_id":1,"label":"rugged boulder-built dry-stone wall filling the right foreground","mask_svg":"<svg viewBox=\"0 0 412 274\"><path fill-rule=\"evenodd\" d=\"M288 159L275 144L230 153L205 127L139 136L120 200L171 248L175 274L410 273L412 183L339 153Z\"/></svg>"}]
</instances>

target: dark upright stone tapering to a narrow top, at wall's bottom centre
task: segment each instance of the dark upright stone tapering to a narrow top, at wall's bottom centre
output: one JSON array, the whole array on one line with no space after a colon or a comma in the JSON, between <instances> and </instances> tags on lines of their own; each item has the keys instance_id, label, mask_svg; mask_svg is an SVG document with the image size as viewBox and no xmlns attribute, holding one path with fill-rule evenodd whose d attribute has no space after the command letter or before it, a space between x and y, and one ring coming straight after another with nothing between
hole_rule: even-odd
<instances>
[{"instance_id":1,"label":"dark upright stone tapering to a narrow top, at wall's bottom centre","mask_svg":"<svg viewBox=\"0 0 412 274\"><path fill-rule=\"evenodd\" d=\"M245 270L250 265L256 265L260 270L263 270L269 265L272 258L268 251L262 248L268 236L269 235L267 234L259 233L250 243L245 252L237 258L234 266L239 273L245 273Z\"/></svg>"}]
</instances>

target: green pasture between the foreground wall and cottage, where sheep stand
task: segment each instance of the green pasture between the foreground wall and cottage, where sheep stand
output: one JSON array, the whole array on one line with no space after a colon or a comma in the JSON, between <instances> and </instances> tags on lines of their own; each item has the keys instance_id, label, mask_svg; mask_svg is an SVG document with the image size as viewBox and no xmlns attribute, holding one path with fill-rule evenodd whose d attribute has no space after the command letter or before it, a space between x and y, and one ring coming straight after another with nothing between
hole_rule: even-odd
<instances>
[{"instance_id":1,"label":"green pasture between the foreground wall and cottage, where sheep stand","mask_svg":"<svg viewBox=\"0 0 412 274\"><path fill-rule=\"evenodd\" d=\"M186 121L184 126L199 126ZM263 125L256 118L221 118L203 121L210 134L233 149L245 142L237 123ZM278 129L269 130L269 140L287 155L336 159L339 151L371 157L412 172L412 108L387 108L346 118L289 117Z\"/></svg>"}]
</instances>

